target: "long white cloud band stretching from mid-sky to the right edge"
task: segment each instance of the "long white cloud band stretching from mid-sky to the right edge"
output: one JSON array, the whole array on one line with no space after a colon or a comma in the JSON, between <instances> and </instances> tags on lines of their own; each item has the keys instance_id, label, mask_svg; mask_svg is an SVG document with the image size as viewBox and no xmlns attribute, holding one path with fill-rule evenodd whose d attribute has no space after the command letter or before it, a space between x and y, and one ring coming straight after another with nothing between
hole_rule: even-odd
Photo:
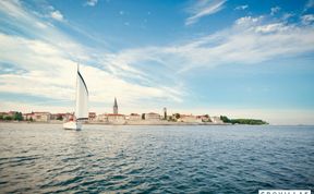
<instances>
[{"instance_id":1,"label":"long white cloud band stretching from mid-sky to the right edge","mask_svg":"<svg viewBox=\"0 0 314 194\"><path fill-rule=\"evenodd\" d=\"M134 50L135 51L135 50ZM225 31L169 47L138 49L129 64L156 61L177 73L228 63L254 64L314 51L314 29L245 16ZM132 56L132 54L131 54Z\"/></svg>"}]
</instances>

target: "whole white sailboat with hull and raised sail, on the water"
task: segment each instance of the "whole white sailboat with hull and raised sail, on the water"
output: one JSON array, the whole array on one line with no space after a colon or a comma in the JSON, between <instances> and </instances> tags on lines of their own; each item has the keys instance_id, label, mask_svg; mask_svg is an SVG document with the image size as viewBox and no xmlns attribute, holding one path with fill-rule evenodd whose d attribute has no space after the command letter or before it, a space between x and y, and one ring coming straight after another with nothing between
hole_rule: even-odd
<instances>
[{"instance_id":1,"label":"whole white sailboat with hull and raised sail, on the water","mask_svg":"<svg viewBox=\"0 0 314 194\"><path fill-rule=\"evenodd\" d=\"M88 120L88 89L85 81L80 73L77 64L76 74L76 105L74 119L63 123L65 130L81 130L84 120Z\"/></svg>"}]
</instances>

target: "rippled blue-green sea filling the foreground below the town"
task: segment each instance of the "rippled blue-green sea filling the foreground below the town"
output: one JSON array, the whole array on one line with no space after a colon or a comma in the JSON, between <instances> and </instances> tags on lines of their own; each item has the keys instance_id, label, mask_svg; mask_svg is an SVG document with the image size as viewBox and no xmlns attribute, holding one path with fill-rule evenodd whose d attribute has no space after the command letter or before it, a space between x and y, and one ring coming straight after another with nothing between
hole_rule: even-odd
<instances>
[{"instance_id":1,"label":"rippled blue-green sea filling the foreground below the town","mask_svg":"<svg viewBox=\"0 0 314 194\"><path fill-rule=\"evenodd\" d=\"M314 126L0 123L0 193L314 190Z\"/></svg>"}]
</instances>

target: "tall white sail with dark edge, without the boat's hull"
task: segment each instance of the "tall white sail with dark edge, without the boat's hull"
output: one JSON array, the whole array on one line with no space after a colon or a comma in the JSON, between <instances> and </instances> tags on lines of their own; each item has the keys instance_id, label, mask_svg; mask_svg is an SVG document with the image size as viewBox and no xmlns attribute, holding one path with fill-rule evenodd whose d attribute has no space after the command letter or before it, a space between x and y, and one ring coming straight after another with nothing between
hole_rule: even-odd
<instances>
[{"instance_id":1,"label":"tall white sail with dark edge, without the boat's hull","mask_svg":"<svg viewBox=\"0 0 314 194\"><path fill-rule=\"evenodd\" d=\"M75 118L76 120L88 119L88 90L85 81L78 70L76 81Z\"/></svg>"}]
</instances>

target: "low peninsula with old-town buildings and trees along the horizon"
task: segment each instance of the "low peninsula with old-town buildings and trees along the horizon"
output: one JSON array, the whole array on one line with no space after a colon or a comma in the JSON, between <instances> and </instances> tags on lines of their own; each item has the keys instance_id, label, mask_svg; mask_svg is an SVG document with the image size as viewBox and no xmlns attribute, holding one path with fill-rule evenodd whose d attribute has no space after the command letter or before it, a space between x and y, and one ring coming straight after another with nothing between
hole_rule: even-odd
<instances>
[{"instance_id":1,"label":"low peninsula with old-town buildings and trees along the horizon","mask_svg":"<svg viewBox=\"0 0 314 194\"><path fill-rule=\"evenodd\" d=\"M74 113L50 113L50 112L31 112L22 113L19 111L0 112L1 122L27 122L27 123L63 123L74 117ZM89 112L87 124L113 124L113 125L230 125L230 124L268 124L257 119L229 119L226 116L215 117L208 114L193 116L173 113L164 116L158 113L131 113L130 116L121 113L96 114Z\"/></svg>"}]
</instances>

